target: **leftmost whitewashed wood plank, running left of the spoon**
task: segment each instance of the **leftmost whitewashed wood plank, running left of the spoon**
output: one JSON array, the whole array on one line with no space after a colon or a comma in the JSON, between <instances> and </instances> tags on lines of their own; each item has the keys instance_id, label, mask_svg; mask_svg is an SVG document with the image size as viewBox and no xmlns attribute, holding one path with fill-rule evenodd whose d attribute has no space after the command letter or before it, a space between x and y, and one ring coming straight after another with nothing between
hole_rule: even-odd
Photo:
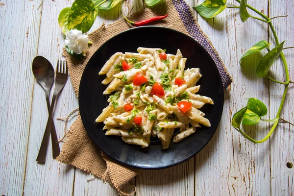
<instances>
[{"instance_id":1,"label":"leftmost whitewashed wood plank, running left of the spoon","mask_svg":"<svg viewBox=\"0 0 294 196\"><path fill-rule=\"evenodd\" d=\"M40 3L0 1L0 195L23 193Z\"/></svg>"}]
</instances>

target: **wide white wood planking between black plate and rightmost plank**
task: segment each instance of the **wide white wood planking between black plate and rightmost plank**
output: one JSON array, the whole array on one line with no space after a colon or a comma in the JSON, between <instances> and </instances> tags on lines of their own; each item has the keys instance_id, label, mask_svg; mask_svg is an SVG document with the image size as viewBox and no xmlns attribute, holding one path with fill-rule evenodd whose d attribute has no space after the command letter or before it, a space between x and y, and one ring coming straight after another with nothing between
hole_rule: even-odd
<instances>
[{"instance_id":1,"label":"wide white wood planking between black plate and rightmost plank","mask_svg":"<svg viewBox=\"0 0 294 196\"><path fill-rule=\"evenodd\" d=\"M200 1L202 2L202 1ZM199 3L200 3L199 2ZM235 2L227 2L233 5ZM267 10L267 2L251 2L259 10ZM236 3L235 6L239 6ZM269 105L268 84L254 73L254 66L243 69L239 59L245 50L260 40L267 40L266 25L253 19L242 23L238 9L227 8L214 19L198 16L198 23L219 52L234 82L225 91L225 105L220 126L212 141L196 155L196 195L269 195L269 143L254 145L241 136L231 125L232 115L256 97ZM253 30L254 29L254 30ZM246 64L258 62L259 56L246 59ZM258 85L256 85L258 83ZM247 134L263 138L269 130L245 127Z\"/></svg>"}]
</instances>

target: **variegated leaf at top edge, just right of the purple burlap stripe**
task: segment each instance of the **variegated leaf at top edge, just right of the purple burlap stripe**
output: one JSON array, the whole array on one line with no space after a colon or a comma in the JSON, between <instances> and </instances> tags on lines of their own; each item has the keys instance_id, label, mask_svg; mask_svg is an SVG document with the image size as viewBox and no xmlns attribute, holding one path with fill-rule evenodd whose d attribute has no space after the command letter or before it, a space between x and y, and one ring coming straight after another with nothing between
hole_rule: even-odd
<instances>
[{"instance_id":1,"label":"variegated leaf at top edge, just right of the purple burlap stripe","mask_svg":"<svg viewBox=\"0 0 294 196\"><path fill-rule=\"evenodd\" d=\"M225 3L226 0L205 0L193 9L205 18L213 18L226 8Z\"/></svg>"}]
</instances>

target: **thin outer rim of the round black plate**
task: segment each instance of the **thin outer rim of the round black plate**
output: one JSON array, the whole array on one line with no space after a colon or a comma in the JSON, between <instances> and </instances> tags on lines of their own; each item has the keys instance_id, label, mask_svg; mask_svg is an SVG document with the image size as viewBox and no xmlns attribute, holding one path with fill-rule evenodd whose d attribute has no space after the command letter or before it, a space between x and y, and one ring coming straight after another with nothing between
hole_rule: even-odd
<instances>
[{"instance_id":1,"label":"thin outer rim of the round black plate","mask_svg":"<svg viewBox=\"0 0 294 196\"><path fill-rule=\"evenodd\" d=\"M208 51L206 49L204 49L204 47L201 46L201 44L199 44L195 39L193 39L192 37L190 37L189 35L185 34L185 33L182 33L178 30L175 30L175 29L172 29L172 28L168 28L168 27L163 27L163 26L154 26L154 25L148 25L148 26L139 26L139 27L133 27L133 28L129 28L129 29L126 29L118 34L116 34L115 36L111 37L110 39L108 39L107 41L105 41L94 53L93 55L91 56L91 58L89 59L89 61L87 62L87 65L85 66L84 70L83 70L83 73L82 73L82 76L81 76L81 79L80 79L80 84L79 84L79 93L78 93L78 106L80 108L80 105L81 105L81 101L80 101L80 88L81 88L81 84L82 84L82 80L83 80L83 77L85 75L85 71L86 69L89 67L89 62L91 62L95 56L95 54L98 52L98 50L106 45L109 41L115 39L117 36L120 36L121 34L127 32L127 31L133 31L133 30L136 30L138 28L162 28L162 29L168 29L168 30L171 30L171 31L174 31L176 33L179 33L185 37L188 37L189 39L192 39L194 42L196 42L196 44L201 47L204 52L206 52L209 56L209 58L211 59L211 61L213 62L213 64L215 65L215 67L217 68L218 70L218 76L219 76L219 80L220 80L220 84L221 84L221 116L220 116L220 119L219 121L217 122L217 128L214 130L214 133L211 135L211 137L209 137L206 142L202 145L202 147L200 147L198 150L196 150L194 153L192 153L190 156L186 157L185 159L177 162L177 163L174 163L174 164L171 164L171 165L167 165L167 166L163 166L163 167L144 167L144 166L137 166L137 165L130 165L130 164L127 164L115 157L112 157L108 152L102 150L98 144L96 144L96 142L94 141L94 139L92 139L91 137L91 132L89 131L89 128L86 127L86 123L84 123L85 120L83 120L85 117L83 117L84 115L80 112L80 116L81 116L81 120L82 120L82 123L83 123L83 126L85 127L86 131L87 131L87 134L89 135L89 137L91 138L92 142L95 144L96 147L98 147L98 149L100 151L102 151L103 153L105 153L109 158L109 159L112 159L112 160L115 160L117 162L119 162L120 164L122 164L123 166L127 166L127 167L131 167L131 168L135 168L135 169L141 169L141 170L160 170L160 169L166 169L166 168L171 168L173 166L176 166L176 165L179 165L185 161L188 161L189 159L191 159L192 157L194 157L196 154L198 154L207 144L208 142L212 139L212 137L215 135L216 133L216 130L218 129L219 125L220 125L220 122L221 122L221 117L222 117L222 112L223 112L223 106L224 106L224 91L223 91L223 84L222 84L222 80L221 80L221 73L219 71L219 68L217 67L215 61L213 60L213 58L211 57L211 55L208 53ZM95 122L94 122L95 123Z\"/></svg>"}]
</instances>

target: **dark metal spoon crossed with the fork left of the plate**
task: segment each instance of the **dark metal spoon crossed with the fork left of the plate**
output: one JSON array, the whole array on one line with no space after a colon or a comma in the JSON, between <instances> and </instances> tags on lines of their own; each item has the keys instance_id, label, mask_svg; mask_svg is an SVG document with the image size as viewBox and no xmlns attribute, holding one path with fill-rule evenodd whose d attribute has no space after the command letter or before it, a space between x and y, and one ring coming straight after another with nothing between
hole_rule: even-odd
<instances>
[{"instance_id":1,"label":"dark metal spoon crossed with the fork left of the plate","mask_svg":"<svg viewBox=\"0 0 294 196\"><path fill-rule=\"evenodd\" d=\"M37 82L41 85L41 87L45 91L46 95L46 102L47 102L47 108L48 112L50 109L50 100L49 100L49 94L51 87L53 85L54 81L54 69L45 57L43 56L36 56L32 63L32 70L33 74L37 80ZM51 142L52 142L52 155L53 159L55 159L60 154L60 148L58 145L58 138L56 135L56 130L54 126L53 120L51 120ZM45 163L41 163L45 164Z\"/></svg>"}]
</instances>

